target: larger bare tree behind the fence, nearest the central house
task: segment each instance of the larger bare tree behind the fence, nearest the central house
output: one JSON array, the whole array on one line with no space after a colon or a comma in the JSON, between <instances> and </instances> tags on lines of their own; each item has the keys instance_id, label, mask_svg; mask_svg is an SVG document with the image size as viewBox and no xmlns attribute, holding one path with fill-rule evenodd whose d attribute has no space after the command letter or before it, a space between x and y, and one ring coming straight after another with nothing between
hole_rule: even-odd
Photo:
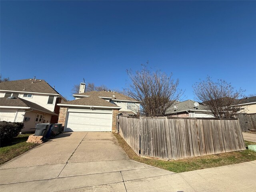
<instances>
[{"instance_id":1,"label":"larger bare tree behind the fence, nearest the central house","mask_svg":"<svg viewBox=\"0 0 256 192\"><path fill-rule=\"evenodd\" d=\"M164 72L150 72L145 65L141 71L128 71L132 83L126 94L140 101L141 115L164 116L166 110L180 98L182 90L178 89L179 80L172 79Z\"/></svg>"}]
</instances>

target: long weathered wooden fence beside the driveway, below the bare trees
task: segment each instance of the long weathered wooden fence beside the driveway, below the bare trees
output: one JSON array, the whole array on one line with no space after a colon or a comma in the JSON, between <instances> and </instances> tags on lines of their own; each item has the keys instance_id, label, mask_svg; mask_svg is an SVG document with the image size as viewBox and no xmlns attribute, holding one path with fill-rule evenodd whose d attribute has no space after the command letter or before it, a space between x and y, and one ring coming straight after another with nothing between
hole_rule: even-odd
<instances>
[{"instance_id":1,"label":"long weathered wooden fence beside the driveway, below the bare trees","mask_svg":"<svg viewBox=\"0 0 256 192\"><path fill-rule=\"evenodd\" d=\"M170 160L246 149L238 119L117 118L120 135L143 157Z\"/></svg>"}]
</instances>

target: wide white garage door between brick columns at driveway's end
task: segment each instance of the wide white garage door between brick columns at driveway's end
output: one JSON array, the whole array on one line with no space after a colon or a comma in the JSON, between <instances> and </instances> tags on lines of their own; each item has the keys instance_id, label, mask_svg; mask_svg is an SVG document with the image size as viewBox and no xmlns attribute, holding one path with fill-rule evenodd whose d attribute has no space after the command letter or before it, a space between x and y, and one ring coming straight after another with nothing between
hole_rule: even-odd
<instances>
[{"instance_id":1,"label":"wide white garage door between brick columns at driveway's end","mask_svg":"<svg viewBox=\"0 0 256 192\"><path fill-rule=\"evenodd\" d=\"M111 131L112 112L68 112L65 131Z\"/></svg>"}]
</instances>

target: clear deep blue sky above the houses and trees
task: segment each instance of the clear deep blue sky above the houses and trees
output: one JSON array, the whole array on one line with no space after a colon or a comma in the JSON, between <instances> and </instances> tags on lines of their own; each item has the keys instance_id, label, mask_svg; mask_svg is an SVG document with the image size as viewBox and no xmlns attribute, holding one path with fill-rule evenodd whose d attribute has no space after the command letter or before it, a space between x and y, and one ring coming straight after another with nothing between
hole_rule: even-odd
<instances>
[{"instance_id":1,"label":"clear deep blue sky above the houses and trees","mask_svg":"<svg viewBox=\"0 0 256 192\"><path fill-rule=\"evenodd\" d=\"M179 78L186 99L207 75L256 93L256 1L1 1L2 77L46 80L69 100L112 89L140 64Z\"/></svg>"}]
</instances>

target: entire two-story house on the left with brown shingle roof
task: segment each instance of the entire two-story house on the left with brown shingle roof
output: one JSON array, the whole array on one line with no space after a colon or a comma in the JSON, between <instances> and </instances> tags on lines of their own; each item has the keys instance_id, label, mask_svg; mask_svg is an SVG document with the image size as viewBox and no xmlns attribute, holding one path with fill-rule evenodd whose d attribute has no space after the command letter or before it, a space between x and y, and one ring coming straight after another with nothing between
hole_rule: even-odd
<instances>
[{"instance_id":1,"label":"entire two-story house on the left with brown shingle roof","mask_svg":"<svg viewBox=\"0 0 256 192\"><path fill-rule=\"evenodd\" d=\"M22 132L37 123L57 123L60 107L67 101L45 80L24 79L0 83L0 120L24 122Z\"/></svg>"}]
</instances>

